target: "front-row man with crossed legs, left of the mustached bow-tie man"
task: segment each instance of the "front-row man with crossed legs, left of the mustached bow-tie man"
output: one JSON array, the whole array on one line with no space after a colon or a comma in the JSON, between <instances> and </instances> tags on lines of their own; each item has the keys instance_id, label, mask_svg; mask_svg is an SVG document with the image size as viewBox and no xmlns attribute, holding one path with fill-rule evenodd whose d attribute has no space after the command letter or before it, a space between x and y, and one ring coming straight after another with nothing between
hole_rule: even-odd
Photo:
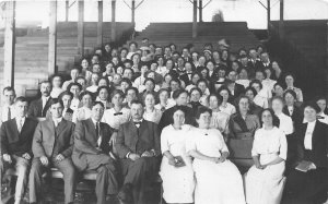
<instances>
[{"instance_id":1,"label":"front-row man with crossed legs, left of the mustached bow-tie man","mask_svg":"<svg viewBox=\"0 0 328 204\"><path fill-rule=\"evenodd\" d=\"M96 170L97 204L105 204L106 195L117 194L117 168L109 156L113 134L108 124L101 122L104 104L96 101L91 118L77 123L72 159L79 171Z\"/></svg>"}]
</instances>

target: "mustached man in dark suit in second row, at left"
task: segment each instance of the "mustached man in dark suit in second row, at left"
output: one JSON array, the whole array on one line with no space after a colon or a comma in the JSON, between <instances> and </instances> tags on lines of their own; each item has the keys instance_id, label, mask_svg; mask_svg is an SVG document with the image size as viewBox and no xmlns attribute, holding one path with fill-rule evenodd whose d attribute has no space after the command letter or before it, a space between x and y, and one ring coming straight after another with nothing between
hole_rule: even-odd
<instances>
[{"instance_id":1,"label":"mustached man in dark suit in second row, at left","mask_svg":"<svg viewBox=\"0 0 328 204\"><path fill-rule=\"evenodd\" d=\"M50 93L51 93L51 83L48 81L44 81L40 83L39 87L42 97L35 99L31 103L27 116L28 117L46 117L47 110L50 107Z\"/></svg>"}]
</instances>

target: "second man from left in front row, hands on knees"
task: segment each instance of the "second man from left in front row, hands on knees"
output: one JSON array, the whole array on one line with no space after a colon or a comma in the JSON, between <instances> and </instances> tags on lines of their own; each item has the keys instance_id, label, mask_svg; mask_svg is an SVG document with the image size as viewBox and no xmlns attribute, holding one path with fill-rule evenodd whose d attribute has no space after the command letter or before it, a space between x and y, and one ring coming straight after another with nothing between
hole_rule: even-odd
<instances>
[{"instance_id":1,"label":"second man from left in front row, hands on knees","mask_svg":"<svg viewBox=\"0 0 328 204\"><path fill-rule=\"evenodd\" d=\"M74 201L75 169L71 159L74 123L62 118L62 100L51 99L51 117L37 124L32 151L34 159L30 172L30 202L42 200L42 175L51 167L63 175L65 203Z\"/></svg>"}]
</instances>

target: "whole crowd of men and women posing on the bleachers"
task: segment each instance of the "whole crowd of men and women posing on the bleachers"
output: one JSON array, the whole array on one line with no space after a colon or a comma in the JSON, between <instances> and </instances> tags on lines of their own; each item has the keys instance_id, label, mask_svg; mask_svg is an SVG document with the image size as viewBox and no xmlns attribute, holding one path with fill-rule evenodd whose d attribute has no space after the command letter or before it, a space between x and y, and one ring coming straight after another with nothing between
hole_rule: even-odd
<instances>
[{"instance_id":1,"label":"whole crowd of men and women posing on the bleachers","mask_svg":"<svg viewBox=\"0 0 328 204\"><path fill-rule=\"evenodd\" d=\"M145 204L160 176L166 203L279 204L327 201L327 100L304 101L295 77L262 46L201 52L187 45L95 49L39 85L28 103L3 89L1 175L15 168L15 203L43 199L43 173L96 172L96 197ZM251 163L239 163L243 158ZM5 178L5 177L4 177Z\"/></svg>"}]
</instances>

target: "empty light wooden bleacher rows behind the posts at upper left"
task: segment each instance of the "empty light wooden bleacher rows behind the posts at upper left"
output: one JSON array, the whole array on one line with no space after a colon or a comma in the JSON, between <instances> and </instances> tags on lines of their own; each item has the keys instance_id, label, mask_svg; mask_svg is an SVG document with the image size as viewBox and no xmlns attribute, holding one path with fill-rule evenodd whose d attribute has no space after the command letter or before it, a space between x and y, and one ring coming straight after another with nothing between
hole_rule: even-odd
<instances>
[{"instance_id":1,"label":"empty light wooden bleacher rows behind the posts at upper left","mask_svg":"<svg viewBox=\"0 0 328 204\"><path fill-rule=\"evenodd\" d=\"M84 53L92 53L96 46L96 22L84 24ZM117 38L132 29L131 23L116 23ZM0 35L2 35L0 33ZM1 37L1 36L0 36ZM110 23L104 23L104 43L110 40ZM3 38L3 35L2 35ZM79 62L78 23L59 22L57 28L57 65L60 73L69 73ZM3 45L0 45L0 73L3 72ZM15 89L17 96L34 93L37 84L48 77L48 28L28 27L25 35L16 36L15 45ZM0 75L0 89L3 88Z\"/></svg>"}]
</instances>

